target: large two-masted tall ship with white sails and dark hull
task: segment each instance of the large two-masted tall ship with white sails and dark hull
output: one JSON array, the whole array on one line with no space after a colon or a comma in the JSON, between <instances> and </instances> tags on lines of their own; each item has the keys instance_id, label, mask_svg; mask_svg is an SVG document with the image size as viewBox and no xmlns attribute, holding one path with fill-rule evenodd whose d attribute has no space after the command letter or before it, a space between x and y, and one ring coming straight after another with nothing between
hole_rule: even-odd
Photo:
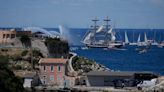
<instances>
[{"instance_id":1,"label":"large two-masted tall ship with white sails and dark hull","mask_svg":"<svg viewBox=\"0 0 164 92\"><path fill-rule=\"evenodd\" d=\"M90 48L120 48L123 46L122 41L118 41L116 32L109 25L110 19L104 19L105 25L98 26L97 18L92 20L94 25L84 35L82 43Z\"/></svg>"}]
</instances>

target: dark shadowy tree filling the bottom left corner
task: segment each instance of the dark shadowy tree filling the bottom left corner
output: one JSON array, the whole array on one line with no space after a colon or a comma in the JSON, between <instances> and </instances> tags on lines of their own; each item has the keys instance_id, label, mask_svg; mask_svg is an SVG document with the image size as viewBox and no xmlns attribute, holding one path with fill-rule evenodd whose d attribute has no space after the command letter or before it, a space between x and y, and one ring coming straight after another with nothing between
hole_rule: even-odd
<instances>
[{"instance_id":1,"label":"dark shadowy tree filling the bottom left corner","mask_svg":"<svg viewBox=\"0 0 164 92\"><path fill-rule=\"evenodd\" d=\"M24 92L23 79L8 68L8 57L0 56L0 92Z\"/></svg>"}]
</instances>

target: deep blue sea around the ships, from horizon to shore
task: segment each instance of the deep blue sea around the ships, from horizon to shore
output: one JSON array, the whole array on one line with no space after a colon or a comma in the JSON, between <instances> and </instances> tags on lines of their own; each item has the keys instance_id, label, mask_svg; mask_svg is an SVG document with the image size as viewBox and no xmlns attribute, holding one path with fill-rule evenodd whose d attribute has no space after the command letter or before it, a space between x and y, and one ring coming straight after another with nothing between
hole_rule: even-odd
<instances>
[{"instance_id":1,"label":"deep blue sea around the ships, from horizon to shore","mask_svg":"<svg viewBox=\"0 0 164 92\"><path fill-rule=\"evenodd\" d=\"M40 28L47 31L65 33L70 50L78 56L87 57L114 71L148 71L164 75L164 47L151 46L146 53L139 53L137 46L124 46L121 49L89 48L81 43L87 28ZM124 41L127 32L130 42L136 42L138 35L144 40L144 33L149 40L164 41L164 29L114 29L116 38Z\"/></svg>"}]
</instances>

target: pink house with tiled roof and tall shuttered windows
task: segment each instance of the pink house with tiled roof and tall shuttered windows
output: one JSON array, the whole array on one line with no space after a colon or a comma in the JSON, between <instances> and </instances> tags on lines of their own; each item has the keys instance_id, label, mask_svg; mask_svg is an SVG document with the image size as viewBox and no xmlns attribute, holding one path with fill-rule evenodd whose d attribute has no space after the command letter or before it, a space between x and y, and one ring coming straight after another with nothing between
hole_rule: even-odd
<instances>
[{"instance_id":1,"label":"pink house with tiled roof and tall shuttered windows","mask_svg":"<svg viewBox=\"0 0 164 92\"><path fill-rule=\"evenodd\" d=\"M63 86L67 59L42 58L39 61L40 79L43 85Z\"/></svg>"}]
</instances>

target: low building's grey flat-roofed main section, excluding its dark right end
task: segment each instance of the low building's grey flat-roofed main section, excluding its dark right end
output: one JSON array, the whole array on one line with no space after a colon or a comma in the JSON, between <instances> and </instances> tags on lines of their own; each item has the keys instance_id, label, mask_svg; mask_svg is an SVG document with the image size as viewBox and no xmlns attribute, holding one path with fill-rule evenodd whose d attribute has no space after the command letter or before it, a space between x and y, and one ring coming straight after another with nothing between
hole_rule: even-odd
<instances>
[{"instance_id":1,"label":"low building's grey flat-roofed main section, excluding its dark right end","mask_svg":"<svg viewBox=\"0 0 164 92\"><path fill-rule=\"evenodd\" d=\"M132 86L133 74L132 72L91 71L87 73L86 84L87 86ZM125 82L126 80L128 83Z\"/></svg>"}]
</instances>

